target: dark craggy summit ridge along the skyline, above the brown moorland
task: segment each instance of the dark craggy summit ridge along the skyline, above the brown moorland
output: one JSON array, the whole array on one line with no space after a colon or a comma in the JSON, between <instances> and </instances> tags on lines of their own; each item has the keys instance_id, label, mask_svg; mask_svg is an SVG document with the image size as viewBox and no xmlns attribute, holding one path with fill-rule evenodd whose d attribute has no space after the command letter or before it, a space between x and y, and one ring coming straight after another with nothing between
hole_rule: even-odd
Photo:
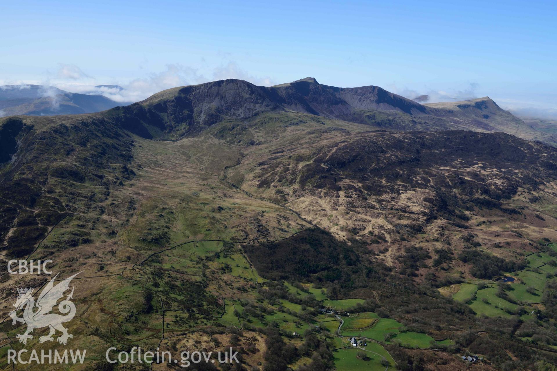
<instances>
[{"instance_id":1,"label":"dark craggy summit ridge along the skyline, above the brown moorland","mask_svg":"<svg viewBox=\"0 0 557 371\"><path fill-rule=\"evenodd\" d=\"M382 129L502 131L557 143L552 134L535 132L494 102L486 103L486 107L476 103L451 109L420 104L377 86L339 88L320 84L311 77L272 87L238 79L176 87L131 104L124 111L150 120L157 117L153 130L140 118L145 124L141 131L154 131L158 132L156 136L173 139L197 135L215 123L243 121L275 111L307 113Z\"/></svg>"}]
</instances>

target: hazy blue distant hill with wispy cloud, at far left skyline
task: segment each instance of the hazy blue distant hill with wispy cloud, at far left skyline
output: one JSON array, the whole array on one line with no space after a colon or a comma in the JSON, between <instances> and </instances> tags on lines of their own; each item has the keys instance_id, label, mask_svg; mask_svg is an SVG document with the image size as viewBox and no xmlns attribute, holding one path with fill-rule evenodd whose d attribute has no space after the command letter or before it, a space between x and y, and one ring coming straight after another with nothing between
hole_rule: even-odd
<instances>
[{"instance_id":1,"label":"hazy blue distant hill with wispy cloud, at far left skyline","mask_svg":"<svg viewBox=\"0 0 557 371\"><path fill-rule=\"evenodd\" d=\"M121 104L100 94L70 93L52 86L5 85L0 87L1 116L93 113L105 111Z\"/></svg>"}]
</instances>

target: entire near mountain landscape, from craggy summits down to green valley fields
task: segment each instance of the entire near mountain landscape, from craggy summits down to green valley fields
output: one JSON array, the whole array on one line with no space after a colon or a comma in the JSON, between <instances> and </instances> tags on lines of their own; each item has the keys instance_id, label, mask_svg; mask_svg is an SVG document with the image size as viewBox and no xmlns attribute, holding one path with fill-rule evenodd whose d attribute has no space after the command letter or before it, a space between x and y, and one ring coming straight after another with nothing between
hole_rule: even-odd
<instances>
[{"instance_id":1,"label":"entire near mountain landscape, from craggy summits down to green valley fields","mask_svg":"<svg viewBox=\"0 0 557 371\"><path fill-rule=\"evenodd\" d=\"M68 325L86 369L140 346L237 349L226 369L551 370L554 138L488 97L420 104L309 77L3 117L0 259L81 272ZM18 342L8 317L9 288L45 277L2 273L3 344L63 349Z\"/></svg>"}]
</instances>

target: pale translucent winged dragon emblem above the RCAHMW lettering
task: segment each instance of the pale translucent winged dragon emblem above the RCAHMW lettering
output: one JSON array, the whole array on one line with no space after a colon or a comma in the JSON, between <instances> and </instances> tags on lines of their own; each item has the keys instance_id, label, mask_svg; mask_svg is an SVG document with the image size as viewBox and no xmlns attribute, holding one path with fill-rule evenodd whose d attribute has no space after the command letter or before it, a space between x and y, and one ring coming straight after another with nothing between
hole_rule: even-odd
<instances>
[{"instance_id":1,"label":"pale translucent winged dragon emblem above the RCAHMW lettering","mask_svg":"<svg viewBox=\"0 0 557 371\"><path fill-rule=\"evenodd\" d=\"M33 335L30 335L30 333L32 333L34 329L47 326L50 328L50 333L46 336L41 336L38 339L40 343L52 342L54 340L52 335L55 334L56 330L62 333L62 335L56 339L60 344L66 345L68 339L73 337L73 335L69 334L67 329L62 326L62 323L71 321L75 316L75 305L71 302L72 296L74 295L73 285L71 293L67 295L65 300L62 300L58 304L58 312L65 315L51 312L58 299L62 298L64 292L70 289L71 280L79 273L66 278L55 286L54 281L56 277L58 277L58 275L56 275L46 284L45 288L42 289L41 294L38 296L37 303L35 303L35 299L33 299L33 289L17 289L19 295L16 303L13 304L16 309L9 313L9 317L12 317L13 325L16 324L16 322L27 324L26 332L16 335L20 343L27 344L27 339L33 338ZM17 311L20 309L23 309L22 318L17 317Z\"/></svg>"}]
</instances>

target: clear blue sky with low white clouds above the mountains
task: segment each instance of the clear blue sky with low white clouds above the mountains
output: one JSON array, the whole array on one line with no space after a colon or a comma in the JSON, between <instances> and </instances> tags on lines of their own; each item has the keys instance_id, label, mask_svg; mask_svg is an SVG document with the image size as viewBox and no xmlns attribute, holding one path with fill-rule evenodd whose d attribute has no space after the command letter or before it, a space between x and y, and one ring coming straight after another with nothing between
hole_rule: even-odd
<instances>
[{"instance_id":1,"label":"clear blue sky with low white clouds above the mountains","mask_svg":"<svg viewBox=\"0 0 557 371\"><path fill-rule=\"evenodd\" d=\"M19 1L2 13L3 84L121 84L145 98L212 79L312 76L557 109L555 1Z\"/></svg>"}]
</instances>

